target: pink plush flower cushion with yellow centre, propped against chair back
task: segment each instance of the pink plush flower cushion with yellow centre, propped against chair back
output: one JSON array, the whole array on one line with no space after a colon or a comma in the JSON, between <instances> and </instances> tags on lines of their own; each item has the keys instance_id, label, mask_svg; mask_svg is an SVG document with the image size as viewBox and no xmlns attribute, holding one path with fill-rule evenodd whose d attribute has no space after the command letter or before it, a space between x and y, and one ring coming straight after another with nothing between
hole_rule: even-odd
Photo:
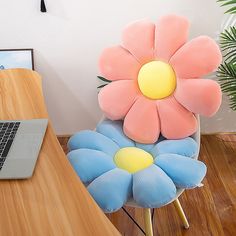
<instances>
[{"instance_id":1,"label":"pink plush flower cushion with yellow centre, propped against chair back","mask_svg":"<svg viewBox=\"0 0 236 236\"><path fill-rule=\"evenodd\" d=\"M160 133L180 139L197 130L194 113L212 116L221 104L221 90L201 78L217 69L222 56L207 36L187 42L189 22L167 15L157 24L147 20L128 25L122 46L103 51L99 67L112 81L98 95L111 120L124 119L125 134L154 143Z\"/></svg>"}]
</instances>

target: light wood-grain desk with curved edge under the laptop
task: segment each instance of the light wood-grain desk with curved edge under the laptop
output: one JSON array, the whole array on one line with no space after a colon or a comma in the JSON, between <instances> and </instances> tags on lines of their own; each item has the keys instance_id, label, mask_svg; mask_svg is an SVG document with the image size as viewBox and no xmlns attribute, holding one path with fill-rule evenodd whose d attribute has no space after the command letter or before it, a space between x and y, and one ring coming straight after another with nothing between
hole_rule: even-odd
<instances>
[{"instance_id":1,"label":"light wood-grain desk with curved edge under the laptop","mask_svg":"<svg viewBox=\"0 0 236 236\"><path fill-rule=\"evenodd\" d=\"M48 118L40 76L0 71L0 119ZM0 236L120 235L75 174L49 123L34 175L0 180Z\"/></svg>"}]
</instances>

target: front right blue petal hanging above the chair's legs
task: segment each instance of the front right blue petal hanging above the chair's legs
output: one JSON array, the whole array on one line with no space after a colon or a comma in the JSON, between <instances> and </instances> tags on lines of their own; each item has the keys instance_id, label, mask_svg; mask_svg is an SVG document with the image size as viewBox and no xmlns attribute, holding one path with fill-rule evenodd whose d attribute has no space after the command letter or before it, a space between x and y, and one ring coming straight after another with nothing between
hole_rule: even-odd
<instances>
[{"instance_id":1,"label":"front right blue petal hanging above the chair's legs","mask_svg":"<svg viewBox=\"0 0 236 236\"><path fill-rule=\"evenodd\" d=\"M133 174L133 198L141 207L161 207L175 196L174 183L156 165Z\"/></svg>"}]
</instances>

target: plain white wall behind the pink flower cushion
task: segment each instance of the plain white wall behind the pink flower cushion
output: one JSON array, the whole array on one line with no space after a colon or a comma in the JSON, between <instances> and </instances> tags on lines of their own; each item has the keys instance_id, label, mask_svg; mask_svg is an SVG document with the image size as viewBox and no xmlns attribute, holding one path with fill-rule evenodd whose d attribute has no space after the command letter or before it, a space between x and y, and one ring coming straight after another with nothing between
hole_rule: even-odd
<instances>
[{"instance_id":1,"label":"plain white wall behind the pink flower cushion","mask_svg":"<svg viewBox=\"0 0 236 236\"><path fill-rule=\"evenodd\" d=\"M45 1L48 13L43 14L40 0L0 0L0 48L34 48L57 134L93 128L100 119L97 60L104 47L120 42L127 23L177 13L192 22L190 37L214 37L223 16L216 0ZM217 119L204 120L203 131L232 129Z\"/></svg>"}]
</instances>

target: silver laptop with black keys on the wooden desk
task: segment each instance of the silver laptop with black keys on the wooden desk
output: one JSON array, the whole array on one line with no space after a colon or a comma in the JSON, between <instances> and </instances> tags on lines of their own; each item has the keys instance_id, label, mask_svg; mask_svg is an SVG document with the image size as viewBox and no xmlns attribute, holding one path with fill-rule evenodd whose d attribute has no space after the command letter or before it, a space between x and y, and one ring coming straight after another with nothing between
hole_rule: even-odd
<instances>
[{"instance_id":1,"label":"silver laptop with black keys on the wooden desk","mask_svg":"<svg viewBox=\"0 0 236 236\"><path fill-rule=\"evenodd\" d=\"M0 179L33 175L47 124L47 119L0 121Z\"/></svg>"}]
</instances>

